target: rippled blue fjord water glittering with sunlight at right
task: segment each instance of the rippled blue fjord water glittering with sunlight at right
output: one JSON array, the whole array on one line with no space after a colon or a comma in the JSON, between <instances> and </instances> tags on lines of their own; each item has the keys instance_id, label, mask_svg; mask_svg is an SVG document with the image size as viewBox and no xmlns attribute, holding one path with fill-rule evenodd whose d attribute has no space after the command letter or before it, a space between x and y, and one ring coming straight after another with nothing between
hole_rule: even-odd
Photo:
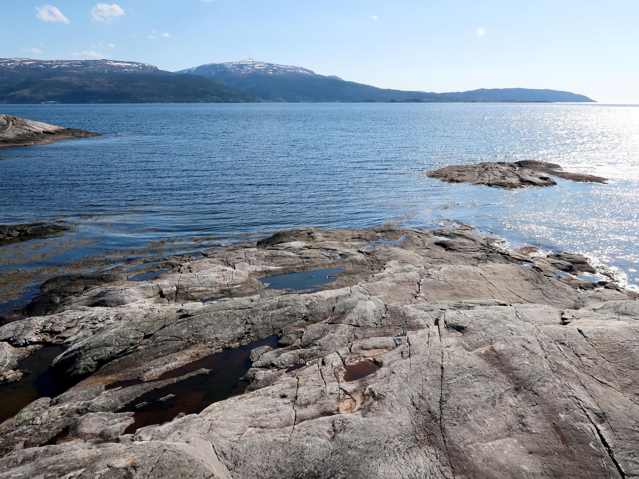
<instances>
[{"instance_id":1,"label":"rippled blue fjord water glittering with sunlight at right","mask_svg":"<svg viewBox=\"0 0 639 479\"><path fill-rule=\"evenodd\" d=\"M637 105L3 105L2 111L104 133L0 151L6 158L0 223L64 219L74 228L61 238L0 248L5 278L12 278L5 287L302 225L385 222L421 229L463 222L511 247L587 254L639 285ZM560 163L610 178L610 185L558 179L557 187L506 191L424 174L520 159ZM28 294L5 289L5 308Z\"/></svg>"}]
</instances>

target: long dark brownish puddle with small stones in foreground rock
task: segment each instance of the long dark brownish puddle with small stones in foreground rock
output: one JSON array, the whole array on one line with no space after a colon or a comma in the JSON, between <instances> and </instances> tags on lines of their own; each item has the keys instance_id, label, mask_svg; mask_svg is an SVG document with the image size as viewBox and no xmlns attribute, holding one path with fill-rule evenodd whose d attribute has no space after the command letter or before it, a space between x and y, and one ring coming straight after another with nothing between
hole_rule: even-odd
<instances>
[{"instance_id":1,"label":"long dark brownish puddle with small stones in foreground rock","mask_svg":"<svg viewBox=\"0 0 639 479\"><path fill-rule=\"evenodd\" d=\"M183 376L202 368L211 370L208 374L191 376L183 381L164 386L164 388L144 393L127 406L119 409L118 413L135 413L135 422L127 427L125 434L135 432L141 427L171 421L180 413L200 413L213 402L243 393L248 383L240 381L240 377L243 377L250 369L250 351L260 346L270 346L277 349L277 335L253 341L235 349L224 349L220 353L210 354L200 360L165 372L155 381ZM135 382L135 384L139 383L141 381ZM116 384L118 383L112 384L111 387ZM132 381L119 383L121 386L132 384ZM169 395L174 395L174 397L167 398ZM140 404L142 406L136 407Z\"/></svg>"}]
</instances>

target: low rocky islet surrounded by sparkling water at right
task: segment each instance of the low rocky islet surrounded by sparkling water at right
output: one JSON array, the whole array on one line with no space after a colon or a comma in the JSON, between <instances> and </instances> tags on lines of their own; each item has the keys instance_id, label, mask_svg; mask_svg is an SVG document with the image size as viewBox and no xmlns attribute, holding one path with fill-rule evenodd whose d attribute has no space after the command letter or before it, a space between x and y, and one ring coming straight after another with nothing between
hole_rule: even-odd
<instances>
[{"instance_id":1,"label":"low rocky islet surrounded by sparkling water at right","mask_svg":"<svg viewBox=\"0 0 639 479\"><path fill-rule=\"evenodd\" d=\"M431 171L429 178L438 178L449 183L470 183L495 188L525 188L527 186L555 186L557 181L550 176L571 181L603 183L601 176L562 171L556 163L520 160L518 162L484 162L473 165L453 165Z\"/></svg>"}]
</instances>

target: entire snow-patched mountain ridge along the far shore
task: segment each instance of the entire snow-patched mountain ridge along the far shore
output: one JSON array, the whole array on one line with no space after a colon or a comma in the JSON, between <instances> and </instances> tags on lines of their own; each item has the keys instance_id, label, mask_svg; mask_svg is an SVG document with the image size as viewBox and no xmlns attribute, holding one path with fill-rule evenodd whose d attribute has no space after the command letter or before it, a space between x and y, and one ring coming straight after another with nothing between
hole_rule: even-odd
<instances>
[{"instance_id":1,"label":"entire snow-patched mountain ridge along the far shore","mask_svg":"<svg viewBox=\"0 0 639 479\"><path fill-rule=\"evenodd\" d=\"M594 102L569 91L493 88L434 93L379 88L254 59L167 72L111 59L0 58L0 103Z\"/></svg>"}]
</instances>

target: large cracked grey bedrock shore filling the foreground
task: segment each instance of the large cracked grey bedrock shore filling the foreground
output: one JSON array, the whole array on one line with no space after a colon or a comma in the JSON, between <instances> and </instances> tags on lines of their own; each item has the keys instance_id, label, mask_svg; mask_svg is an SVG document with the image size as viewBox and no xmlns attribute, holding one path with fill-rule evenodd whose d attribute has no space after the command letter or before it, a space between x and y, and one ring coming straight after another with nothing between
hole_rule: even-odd
<instances>
[{"instance_id":1,"label":"large cracked grey bedrock shore filling the foreground","mask_svg":"<svg viewBox=\"0 0 639 479\"><path fill-rule=\"evenodd\" d=\"M335 264L309 294L261 281ZM0 327L4 374L60 345L80 381L0 425L0 477L637 476L639 301L587 268L461 230L300 228L82 287ZM180 384L217 369L196 361L253 342L245 392L190 414Z\"/></svg>"}]
</instances>

